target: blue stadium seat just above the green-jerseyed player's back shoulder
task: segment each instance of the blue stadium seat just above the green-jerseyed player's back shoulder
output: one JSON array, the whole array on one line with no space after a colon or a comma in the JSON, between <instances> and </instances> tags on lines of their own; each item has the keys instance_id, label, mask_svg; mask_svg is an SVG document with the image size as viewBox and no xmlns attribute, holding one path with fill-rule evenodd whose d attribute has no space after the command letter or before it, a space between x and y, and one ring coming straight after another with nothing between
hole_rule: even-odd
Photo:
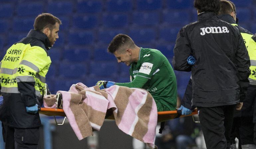
<instances>
[{"instance_id":1,"label":"blue stadium seat just above the green-jerseyed player's back shoulder","mask_svg":"<svg viewBox=\"0 0 256 149\"><path fill-rule=\"evenodd\" d=\"M159 44L156 46L157 47L156 49L161 51L167 59L170 59L170 58L173 58L174 56L174 53L173 53L174 45L175 45L174 43Z\"/></svg>"}]
</instances>

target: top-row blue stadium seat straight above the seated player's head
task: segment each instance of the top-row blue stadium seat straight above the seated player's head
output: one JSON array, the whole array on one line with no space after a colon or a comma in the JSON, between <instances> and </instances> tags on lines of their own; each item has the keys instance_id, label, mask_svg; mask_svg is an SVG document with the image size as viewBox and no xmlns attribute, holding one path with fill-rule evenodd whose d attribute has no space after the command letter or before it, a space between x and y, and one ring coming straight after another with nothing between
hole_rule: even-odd
<instances>
[{"instance_id":1,"label":"top-row blue stadium seat straight above the seated player's head","mask_svg":"<svg viewBox=\"0 0 256 149\"><path fill-rule=\"evenodd\" d=\"M109 0L107 2L107 11L127 12L132 10L132 2L130 0Z\"/></svg>"}]
</instances>

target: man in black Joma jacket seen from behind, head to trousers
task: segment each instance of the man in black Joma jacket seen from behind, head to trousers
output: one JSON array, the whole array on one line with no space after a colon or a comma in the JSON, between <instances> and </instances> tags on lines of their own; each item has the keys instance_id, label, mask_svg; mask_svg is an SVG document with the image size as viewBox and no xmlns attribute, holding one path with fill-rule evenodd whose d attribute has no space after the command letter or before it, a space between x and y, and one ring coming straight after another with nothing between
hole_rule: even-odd
<instances>
[{"instance_id":1,"label":"man in black Joma jacket seen from behind, head to trousers","mask_svg":"<svg viewBox=\"0 0 256 149\"><path fill-rule=\"evenodd\" d=\"M239 30L217 18L220 0L195 0L198 21L177 35L173 66L192 71L196 106L206 147L230 146L234 110L241 109L249 85L250 59ZM189 65L189 56L195 58Z\"/></svg>"}]
</instances>

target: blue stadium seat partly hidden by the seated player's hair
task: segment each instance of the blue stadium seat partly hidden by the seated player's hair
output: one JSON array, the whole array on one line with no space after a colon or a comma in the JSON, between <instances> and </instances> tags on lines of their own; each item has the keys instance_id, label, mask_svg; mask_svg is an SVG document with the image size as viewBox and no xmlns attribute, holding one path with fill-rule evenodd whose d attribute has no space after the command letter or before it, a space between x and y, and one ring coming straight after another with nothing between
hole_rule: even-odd
<instances>
[{"instance_id":1,"label":"blue stadium seat partly hidden by the seated player's hair","mask_svg":"<svg viewBox=\"0 0 256 149\"><path fill-rule=\"evenodd\" d=\"M115 35L122 33L125 34L123 29L100 29L98 33L98 42L109 44Z\"/></svg>"}]
</instances>

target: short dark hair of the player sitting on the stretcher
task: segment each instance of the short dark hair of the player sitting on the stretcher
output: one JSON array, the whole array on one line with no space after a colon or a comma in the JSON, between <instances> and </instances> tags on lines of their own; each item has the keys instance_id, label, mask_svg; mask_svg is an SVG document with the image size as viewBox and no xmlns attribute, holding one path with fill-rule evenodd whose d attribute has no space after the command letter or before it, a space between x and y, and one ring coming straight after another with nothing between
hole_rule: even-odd
<instances>
[{"instance_id":1,"label":"short dark hair of the player sitting on the stretcher","mask_svg":"<svg viewBox=\"0 0 256 149\"><path fill-rule=\"evenodd\" d=\"M129 36L125 34L116 35L108 45L108 52L114 53L117 50L125 50L125 48L134 48L135 44Z\"/></svg>"}]
</instances>

